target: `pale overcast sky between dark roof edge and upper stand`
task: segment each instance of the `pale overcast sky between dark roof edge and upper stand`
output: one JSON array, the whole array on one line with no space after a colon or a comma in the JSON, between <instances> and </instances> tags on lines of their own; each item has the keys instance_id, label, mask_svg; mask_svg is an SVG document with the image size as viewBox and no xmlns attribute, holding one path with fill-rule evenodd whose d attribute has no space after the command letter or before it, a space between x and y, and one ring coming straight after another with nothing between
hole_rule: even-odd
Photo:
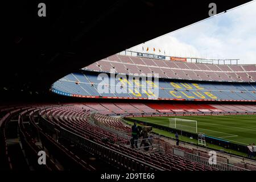
<instances>
[{"instance_id":1,"label":"pale overcast sky between dark roof edge and upper stand","mask_svg":"<svg viewBox=\"0 0 256 182\"><path fill-rule=\"evenodd\" d=\"M218 7L217 7L218 8ZM143 44L166 55L256 64L256 1ZM142 52L142 44L130 50Z\"/></svg>"}]
</instances>

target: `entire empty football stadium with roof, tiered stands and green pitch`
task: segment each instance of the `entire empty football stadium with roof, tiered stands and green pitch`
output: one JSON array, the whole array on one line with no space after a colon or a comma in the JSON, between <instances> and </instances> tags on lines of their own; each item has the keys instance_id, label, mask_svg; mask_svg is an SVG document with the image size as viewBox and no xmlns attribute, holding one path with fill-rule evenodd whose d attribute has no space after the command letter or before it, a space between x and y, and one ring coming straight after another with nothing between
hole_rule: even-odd
<instances>
[{"instance_id":1,"label":"entire empty football stadium with roof, tiered stands and green pitch","mask_svg":"<svg viewBox=\"0 0 256 182\"><path fill-rule=\"evenodd\" d=\"M142 22L110 20L126 18L122 11L135 2L104 2L90 20L86 10L96 2L64 2L55 13L57 5L46 3L51 18L39 23L37 14L29 18L37 4L30 10L20 2L28 13L15 20L17 62L1 67L0 171L256 171L256 61L241 63L240 52L179 55L146 42L208 14L146 33ZM150 18L171 6L137 3L131 19L142 7ZM218 12L244 3L217 3ZM208 1L187 6L206 4L208 12ZM45 27L22 26L32 22Z\"/></svg>"}]
</instances>

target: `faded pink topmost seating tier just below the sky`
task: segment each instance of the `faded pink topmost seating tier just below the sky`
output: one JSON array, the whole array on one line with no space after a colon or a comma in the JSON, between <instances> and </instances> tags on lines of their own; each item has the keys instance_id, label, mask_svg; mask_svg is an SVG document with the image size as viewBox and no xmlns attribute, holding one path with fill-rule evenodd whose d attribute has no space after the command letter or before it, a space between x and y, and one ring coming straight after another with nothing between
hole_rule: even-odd
<instances>
[{"instance_id":1,"label":"faded pink topmost seating tier just below the sky","mask_svg":"<svg viewBox=\"0 0 256 182\"><path fill-rule=\"evenodd\" d=\"M177 61L148 59L144 57L113 55L90 64L84 69L117 73L158 73L162 78L181 80L255 82L256 65L216 65L183 63Z\"/></svg>"}]
</instances>

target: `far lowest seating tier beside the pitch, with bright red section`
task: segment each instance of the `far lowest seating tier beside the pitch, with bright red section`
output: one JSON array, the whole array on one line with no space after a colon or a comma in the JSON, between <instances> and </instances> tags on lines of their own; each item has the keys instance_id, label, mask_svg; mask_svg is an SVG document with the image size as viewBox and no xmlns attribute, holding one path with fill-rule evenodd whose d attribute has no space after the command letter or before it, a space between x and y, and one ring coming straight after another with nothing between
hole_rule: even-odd
<instances>
[{"instance_id":1,"label":"far lowest seating tier beside the pitch, with bright red section","mask_svg":"<svg viewBox=\"0 0 256 182\"><path fill-rule=\"evenodd\" d=\"M97 111L104 115L134 113L220 113L220 112L251 112L256 113L255 105L221 105L221 104L141 104L141 103L84 103L73 108Z\"/></svg>"}]
</instances>

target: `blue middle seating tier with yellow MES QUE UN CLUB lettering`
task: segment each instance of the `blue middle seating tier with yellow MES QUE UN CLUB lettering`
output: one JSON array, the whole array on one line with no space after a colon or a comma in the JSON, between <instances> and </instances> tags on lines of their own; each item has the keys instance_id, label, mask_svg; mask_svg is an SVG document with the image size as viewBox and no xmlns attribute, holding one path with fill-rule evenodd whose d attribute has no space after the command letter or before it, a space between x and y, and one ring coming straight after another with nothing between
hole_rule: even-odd
<instances>
[{"instance_id":1,"label":"blue middle seating tier with yellow MES QUE UN CLUB lettering","mask_svg":"<svg viewBox=\"0 0 256 182\"><path fill-rule=\"evenodd\" d=\"M183 73L177 73L180 75ZM234 73L235 74L235 73ZM208 77L205 75L205 77ZM115 79L115 80L111 80ZM240 79L240 78L238 78ZM73 81L76 80L76 81ZM115 81L115 90L109 86ZM79 84L77 84L79 82ZM93 84L91 84L93 82ZM173 80L159 80L154 82L155 92L146 91L148 82L119 80L119 78L105 78L104 84L92 73L72 73L61 78L52 86L52 92L72 97L102 97L102 98L134 98L134 99L164 99L164 100L207 100L207 101L256 101L255 83L211 83L184 82ZM100 89L104 85L105 92ZM117 85L123 92L118 92ZM122 85L122 86L121 86ZM138 86L140 85L140 86ZM111 90L110 90L111 89ZM154 91L154 90L153 90ZM101 106L96 106L101 107ZM92 106L92 109L96 109ZM97 109L99 110L99 109ZM106 114L106 113L105 113Z\"/></svg>"}]
</instances>

